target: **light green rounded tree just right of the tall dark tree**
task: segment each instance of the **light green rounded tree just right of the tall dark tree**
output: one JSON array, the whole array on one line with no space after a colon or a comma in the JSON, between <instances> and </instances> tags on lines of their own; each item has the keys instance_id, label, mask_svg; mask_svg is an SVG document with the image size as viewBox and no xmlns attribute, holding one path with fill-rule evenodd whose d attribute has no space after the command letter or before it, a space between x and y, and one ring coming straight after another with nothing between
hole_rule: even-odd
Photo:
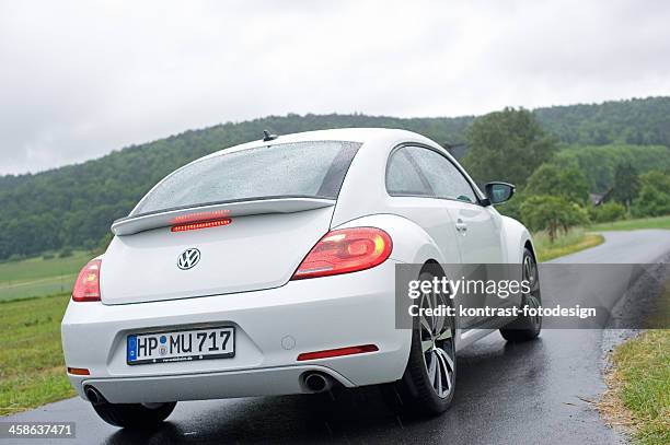
<instances>
[{"instance_id":1,"label":"light green rounded tree just right of the tall dark tree","mask_svg":"<svg viewBox=\"0 0 670 445\"><path fill-rule=\"evenodd\" d=\"M580 206L589 201L589 185L576 165L561 168L555 164L542 164L528 179L525 192L563 197Z\"/></svg>"}]
</instances>

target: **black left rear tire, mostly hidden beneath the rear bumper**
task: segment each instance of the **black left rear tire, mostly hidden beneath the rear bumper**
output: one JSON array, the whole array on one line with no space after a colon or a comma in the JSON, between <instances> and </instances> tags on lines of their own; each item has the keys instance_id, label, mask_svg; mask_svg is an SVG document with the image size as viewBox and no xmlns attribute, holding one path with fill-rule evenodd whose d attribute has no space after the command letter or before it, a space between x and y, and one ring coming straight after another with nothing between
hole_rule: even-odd
<instances>
[{"instance_id":1,"label":"black left rear tire, mostly hidden beneath the rear bumper","mask_svg":"<svg viewBox=\"0 0 670 445\"><path fill-rule=\"evenodd\" d=\"M174 410L176 401L166 403L97 403L93 409L105 422L132 430L150 430L160 425Z\"/></svg>"}]
</instances>

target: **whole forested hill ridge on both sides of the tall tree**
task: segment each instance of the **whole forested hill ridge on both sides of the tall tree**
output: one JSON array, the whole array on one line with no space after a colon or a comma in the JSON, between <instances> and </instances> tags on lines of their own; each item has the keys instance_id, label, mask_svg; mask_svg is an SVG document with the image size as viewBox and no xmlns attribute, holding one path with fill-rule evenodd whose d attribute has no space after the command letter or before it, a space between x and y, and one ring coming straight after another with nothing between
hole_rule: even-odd
<instances>
[{"instance_id":1,"label":"whole forested hill ridge on both sides of the tall tree","mask_svg":"<svg viewBox=\"0 0 670 445\"><path fill-rule=\"evenodd\" d=\"M670 97L541 108L541 124L567 143L670 145ZM464 140L474 117L412 118L288 115L228 122L129 147L35 175L0 177L0 259L63 247L92 247L160 178L222 148L278 134L342 127L391 127L439 143ZM0 141L1 143L1 141Z\"/></svg>"}]
</instances>

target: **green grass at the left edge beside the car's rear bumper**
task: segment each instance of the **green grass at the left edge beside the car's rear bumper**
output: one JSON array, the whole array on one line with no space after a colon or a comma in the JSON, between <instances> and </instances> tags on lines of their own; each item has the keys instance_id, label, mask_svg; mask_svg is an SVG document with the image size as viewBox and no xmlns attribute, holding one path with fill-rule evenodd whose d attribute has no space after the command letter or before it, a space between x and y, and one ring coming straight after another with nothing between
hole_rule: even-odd
<instances>
[{"instance_id":1,"label":"green grass at the left edge beside the car's rear bumper","mask_svg":"<svg viewBox=\"0 0 670 445\"><path fill-rule=\"evenodd\" d=\"M0 415L74 395L60 347L68 301L58 295L0 303Z\"/></svg>"}]
</instances>

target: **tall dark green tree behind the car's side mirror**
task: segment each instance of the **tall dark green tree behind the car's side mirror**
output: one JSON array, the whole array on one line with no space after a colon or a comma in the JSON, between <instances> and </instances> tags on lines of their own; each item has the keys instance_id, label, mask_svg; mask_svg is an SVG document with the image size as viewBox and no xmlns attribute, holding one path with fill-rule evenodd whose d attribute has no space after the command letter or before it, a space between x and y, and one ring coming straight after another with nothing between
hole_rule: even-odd
<instances>
[{"instance_id":1,"label":"tall dark green tree behind the car's side mirror","mask_svg":"<svg viewBox=\"0 0 670 445\"><path fill-rule=\"evenodd\" d=\"M519 187L555 150L554 140L523 108L477 118L465 139L463 164L476 180L507 180Z\"/></svg>"}]
</instances>

